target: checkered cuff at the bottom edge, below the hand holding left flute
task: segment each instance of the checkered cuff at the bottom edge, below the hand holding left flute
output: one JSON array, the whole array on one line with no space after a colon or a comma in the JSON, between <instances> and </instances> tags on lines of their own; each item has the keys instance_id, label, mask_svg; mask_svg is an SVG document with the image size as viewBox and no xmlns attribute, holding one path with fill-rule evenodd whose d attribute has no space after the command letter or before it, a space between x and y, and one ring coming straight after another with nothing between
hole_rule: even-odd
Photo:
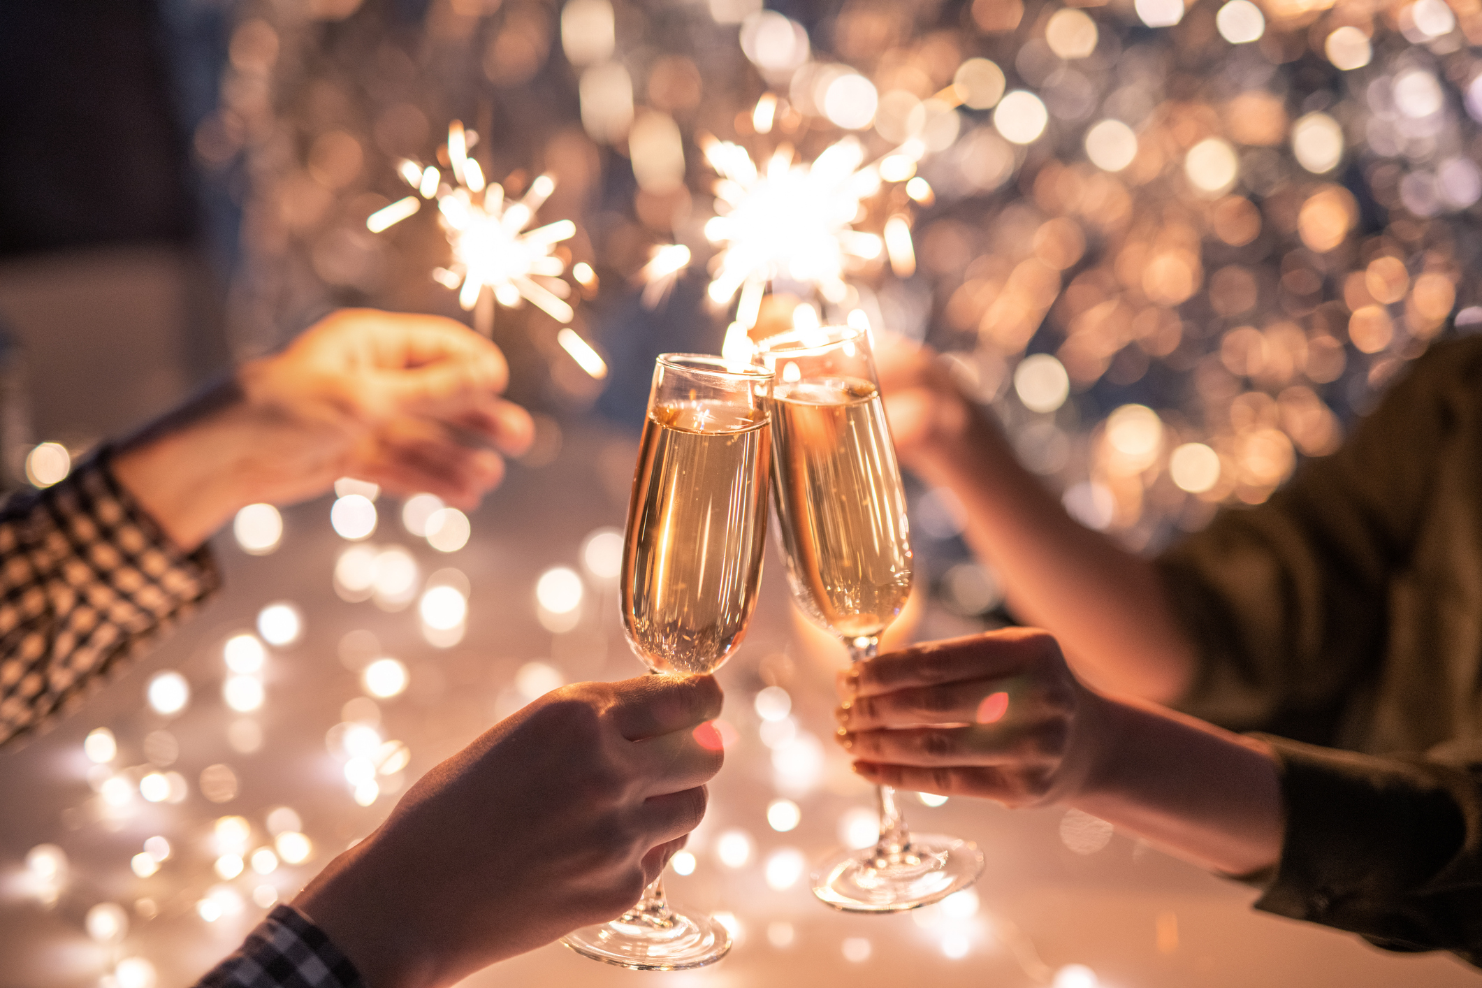
<instances>
[{"instance_id":1,"label":"checkered cuff at the bottom edge, below the hand holding left flute","mask_svg":"<svg viewBox=\"0 0 1482 988\"><path fill-rule=\"evenodd\" d=\"M365 988L365 982L323 930L280 905L196 988Z\"/></svg>"}]
</instances>

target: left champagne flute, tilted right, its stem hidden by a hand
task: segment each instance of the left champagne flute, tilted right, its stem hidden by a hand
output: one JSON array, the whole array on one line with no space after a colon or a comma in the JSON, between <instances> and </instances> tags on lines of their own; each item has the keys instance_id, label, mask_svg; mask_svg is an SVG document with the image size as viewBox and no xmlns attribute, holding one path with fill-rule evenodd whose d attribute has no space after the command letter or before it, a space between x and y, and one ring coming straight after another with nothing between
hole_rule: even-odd
<instances>
[{"instance_id":1,"label":"left champagne flute, tilted right, its stem hidden by a hand","mask_svg":"<svg viewBox=\"0 0 1482 988\"><path fill-rule=\"evenodd\" d=\"M745 635L762 584L772 375L719 357L662 354L633 475L622 548L622 628L661 675L713 672ZM680 912L655 878L631 909L565 944L637 970L725 957L731 935Z\"/></svg>"}]
</instances>

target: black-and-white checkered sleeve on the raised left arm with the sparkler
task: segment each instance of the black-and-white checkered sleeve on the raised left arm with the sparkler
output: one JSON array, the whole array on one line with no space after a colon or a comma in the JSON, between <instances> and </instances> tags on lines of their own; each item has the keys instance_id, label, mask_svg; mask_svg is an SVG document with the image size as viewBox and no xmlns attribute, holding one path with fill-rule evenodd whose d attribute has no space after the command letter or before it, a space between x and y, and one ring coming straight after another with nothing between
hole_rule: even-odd
<instances>
[{"instance_id":1,"label":"black-and-white checkered sleeve on the raised left arm with the sparkler","mask_svg":"<svg viewBox=\"0 0 1482 988\"><path fill-rule=\"evenodd\" d=\"M108 468L0 504L0 745L44 730L219 587Z\"/></svg>"}]
</instances>

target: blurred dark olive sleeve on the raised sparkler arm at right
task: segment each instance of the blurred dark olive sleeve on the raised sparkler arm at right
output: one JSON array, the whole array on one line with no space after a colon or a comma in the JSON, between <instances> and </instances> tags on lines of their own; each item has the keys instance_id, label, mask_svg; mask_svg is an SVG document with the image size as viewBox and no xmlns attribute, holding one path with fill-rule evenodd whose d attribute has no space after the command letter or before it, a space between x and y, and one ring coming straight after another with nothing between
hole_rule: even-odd
<instances>
[{"instance_id":1,"label":"blurred dark olive sleeve on the raised sparkler arm at right","mask_svg":"<svg viewBox=\"0 0 1482 988\"><path fill-rule=\"evenodd\" d=\"M1332 736L1346 690L1383 661L1392 581L1438 462L1475 441L1472 381L1482 381L1482 339L1435 348L1337 453L1156 560L1197 656L1178 708L1240 730Z\"/></svg>"}]
</instances>

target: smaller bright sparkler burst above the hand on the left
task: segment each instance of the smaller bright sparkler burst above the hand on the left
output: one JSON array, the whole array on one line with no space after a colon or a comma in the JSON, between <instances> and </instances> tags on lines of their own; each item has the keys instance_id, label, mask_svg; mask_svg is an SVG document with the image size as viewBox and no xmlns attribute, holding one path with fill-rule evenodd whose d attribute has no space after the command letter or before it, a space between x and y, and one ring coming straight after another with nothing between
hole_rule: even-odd
<instances>
[{"instance_id":1,"label":"smaller bright sparkler burst above the hand on the left","mask_svg":"<svg viewBox=\"0 0 1482 988\"><path fill-rule=\"evenodd\" d=\"M480 298L486 298L488 289L492 301L505 308L531 302L557 323L569 323L575 316L566 302L572 289L562 278L566 262L554 255L554 249L562 240L575 236L576 224L560 219L526 230L556 190L556 179L541 175L531 182L522 198L507 198L504 187L488 182L479 161L468 157L473 138L461 121L449 124L446 176L434 166L424 167L411 160L397 166L402 179L422 198L437 200L439 222L452 247L452 261L436 268L433 278L458 292L458 304L464 311L473 311ZM456 185L449 185L445 181L448 178ZM366 227L372 233L381 233L418 212L418 200L408 196L372 213ZM486 307L480 307L483 318L479 321L485 323L480 329L488 333L492 329L494 307L489 301Z\"/></svg>"}]
</instances>

